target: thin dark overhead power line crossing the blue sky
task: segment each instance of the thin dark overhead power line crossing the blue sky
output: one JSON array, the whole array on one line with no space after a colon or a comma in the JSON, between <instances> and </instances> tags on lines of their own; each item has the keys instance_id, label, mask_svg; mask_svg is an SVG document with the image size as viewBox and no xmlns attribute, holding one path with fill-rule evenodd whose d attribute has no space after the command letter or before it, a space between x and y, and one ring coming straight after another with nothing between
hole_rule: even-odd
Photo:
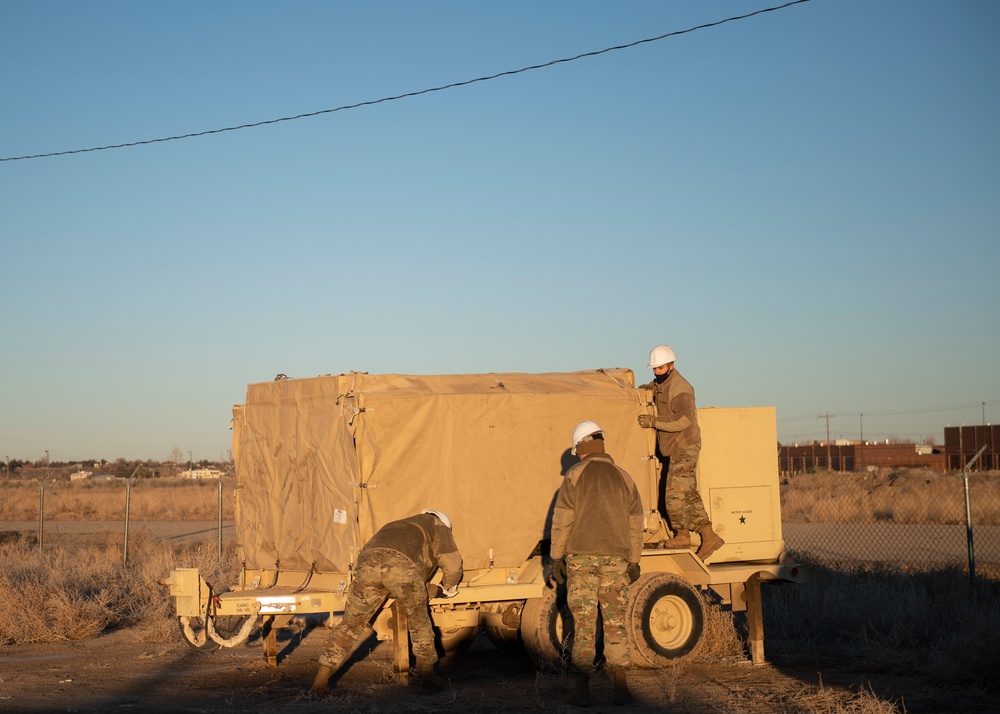
<instances>
[{"instance_id":1,"label":"thin dark overhead power line crossing the blue sky","mask_svg":"<svg viewBox=\"0 0 1000 714\"><path fill-rule=\"evenodd\" d=\"M456 89L458 87L466 87L470 84L476 84L477 82L488 82L492 79L499 79L500 77L510 77L515 74L523 74L524 72L531 72L536 69L545 69L546 67L553 67L557 64L565 64L567 62L575 62L577 60L586 59L588 57L596 57L598 55L607 54L608 52L617 52L618 50L626 50L632 47L638 47L639 45L648 44L650 42L659 42L660 40L665 40L670 37L677 37L678 35L686 35L690 32L695 32L697 30L706 30L710 27L718 27L719 25L724 25L727 22L735 22L736 20L746 20L747 18L754 17L755 15L763 15L767 12L774 12L775 10L784 10L785 8L791 7L792 5L801 5L802 3L810 2L811 0L792 0L792 2L787 2L784 5L776 5L774 7L763 8L762 10L755 10L754 12L748 12L745 15L737 15L735 17L727 17L724 20L717 20L716 22L709 22L704 25L697 25L696 27L689 27L686 30L677 30L675 32L668 32L657 37L649 37L645 40L636 40L635 42L629 42L625 45L617 45L616 47L606 47L603 50L595 50L593 52L584 52L583 54L576 55L574 57L564 57L563 59L552 60L551 62L545 62L543 64L535 64L530 67L522 67L521 69L512 69L506 72L498 72L496 74L491 74L485 77L477 77L476 79L466 79L461 82L452 82L451 84L443 84L439 87L430 87L429 89L421 89L415 92L406 92L404 94L397 94L392 97L383 97L382 99L372 99L366 102L358 102L357 104L345 104L340 107L334 107L333 109L320 109L315 112L308 112L305 114L296 114L294 116L281 117L279 119L266 119L264 121L252 122L249 124L240 124L238 126L228 126L223 129L208 129L207 131L192 132L190 134L178 134L176 136L164 136L159 139L145 139L143 141L131 141L124 144L111 144L108 146L94 146L89 149L72 149L69 151L53 151L47 154L31 154L28 156L8 156L0 158L0 161L26 161L28 159L44 159L51 156L68 156L70 154L84 154L90 151L107 151L109 149L125 149L130 146L143 146L145 144L158 144L165 141L179 141L181 139L193 139L196 136L209 136L210 134L222 134L227 131L239 131L241 129L252 129L258 126L266 126L268 124L278 124L280 122L295 121L297 119L308 119L309 117L320 116L321 114L333 114L334 112L347 111L348 109L359 109L361 107L370 107L375 104L384 104L385 102L395 102L400 99L407 99L409 97L418 97L422 94L430 94L432 92L443 92L446 89Z\"/></svg>"}]
</instances>

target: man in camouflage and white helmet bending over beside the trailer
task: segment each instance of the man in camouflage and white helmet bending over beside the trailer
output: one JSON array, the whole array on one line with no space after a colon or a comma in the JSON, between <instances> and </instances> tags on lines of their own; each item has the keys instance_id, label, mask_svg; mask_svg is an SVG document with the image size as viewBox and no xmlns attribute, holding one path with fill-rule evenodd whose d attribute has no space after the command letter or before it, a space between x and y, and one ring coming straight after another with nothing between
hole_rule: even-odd
<instances>
[{"instance_id":1,"label":"man in camouflage and white helmet bending over beside the trailer","mask_svg":"<svg viewBox=\"0 0 1000 714\"><path fill-rule=\"evenodd\" d=\"M440 587L429 585L438 568L442 573ZM462 556L446 514L427 509L419 515L385 524L358 555L344 616L319 658L313 693L329 692L330 676L372 634L371 620L390 596L406 612L423 691L438 691L440 682L434 673L438 656L427 600L431 589L435 590L435 596L440 591L444 597L454 597L461 579Z\"/></svg>"}]
</instances>

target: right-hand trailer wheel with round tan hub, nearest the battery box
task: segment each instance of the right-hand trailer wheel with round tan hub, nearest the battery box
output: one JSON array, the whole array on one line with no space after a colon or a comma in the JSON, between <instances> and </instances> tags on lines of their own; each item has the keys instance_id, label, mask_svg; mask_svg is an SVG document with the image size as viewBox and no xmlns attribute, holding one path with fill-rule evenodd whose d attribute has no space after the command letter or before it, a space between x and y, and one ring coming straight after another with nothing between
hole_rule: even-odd
<instances>
[{"instance_id":1,"label":"right-hand trailer wheel with round tan hub, nearest the battery box","mask_svg":"<svg viewBox=\"0 0 1000 714\"><path fill-rule=\"evenodd\" d=\"M627 622L633 664L670 667L704 644L705 601L676 575L643 575L629 588Z\"/></svg>"}]
</instances>

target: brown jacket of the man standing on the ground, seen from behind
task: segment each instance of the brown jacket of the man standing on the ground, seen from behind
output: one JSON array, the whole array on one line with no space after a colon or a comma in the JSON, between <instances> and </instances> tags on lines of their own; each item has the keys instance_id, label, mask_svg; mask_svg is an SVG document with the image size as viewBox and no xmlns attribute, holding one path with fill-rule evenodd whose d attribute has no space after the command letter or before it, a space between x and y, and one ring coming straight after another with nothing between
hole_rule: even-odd
<instances>
[{"instance_id":1,"label":"brown jacket of the man standing on the ground, seen from behind","mask_svg":"<svg viewBox=\"0 0 1000 714\"><path fill-rule=\"evenodd\" d=\"M556 496L549 554L620 555L638 563L642 553L642 500L635 482L607 454L591 454L570 467Z\"/></svg>"}]
</instances>

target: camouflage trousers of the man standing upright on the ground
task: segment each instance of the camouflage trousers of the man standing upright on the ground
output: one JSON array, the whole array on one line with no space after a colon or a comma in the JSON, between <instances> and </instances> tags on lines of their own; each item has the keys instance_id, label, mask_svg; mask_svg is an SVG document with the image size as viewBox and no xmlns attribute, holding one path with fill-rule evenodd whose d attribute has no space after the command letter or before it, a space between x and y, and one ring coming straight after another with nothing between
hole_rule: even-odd
<instances>
[{"instance_id":1,"label":"camouflage trousers of the man standing upright on the ground","mask_svg":"<svg viewBox=\"0 0 1000 714\"><path fill-rule=\"evenodd\" d=\"M604 622L604 658L608 667L629 664L626 639L628 559L618 555L567 555L566 604L573 614L573 666L594 671L597 612Z\"/></svg>"}]
</instances>

